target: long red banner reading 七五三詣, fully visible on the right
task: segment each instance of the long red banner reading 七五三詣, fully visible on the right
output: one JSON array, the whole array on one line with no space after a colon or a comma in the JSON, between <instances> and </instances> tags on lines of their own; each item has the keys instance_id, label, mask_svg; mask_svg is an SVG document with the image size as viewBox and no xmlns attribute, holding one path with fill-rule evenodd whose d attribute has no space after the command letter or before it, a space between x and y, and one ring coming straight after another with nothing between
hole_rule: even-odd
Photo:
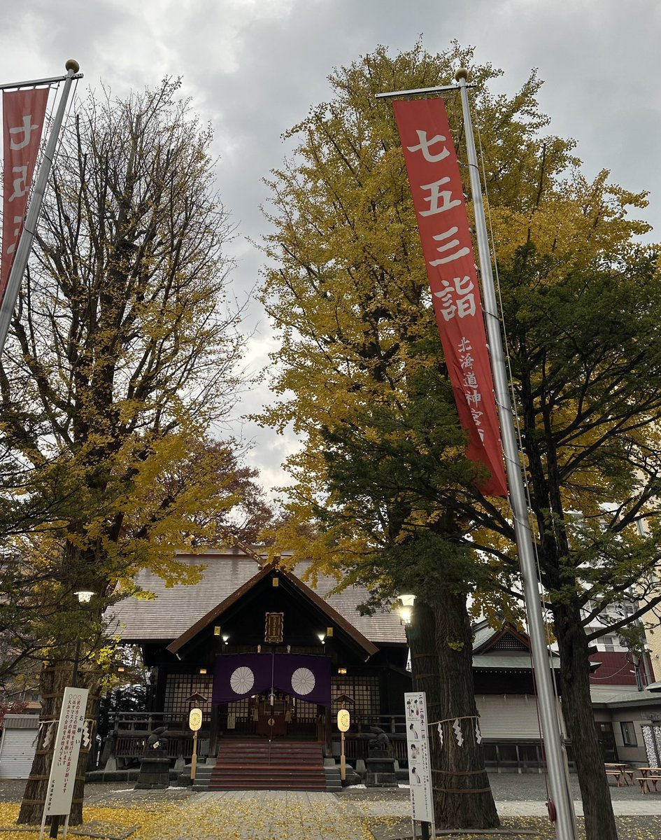
<instances>
[{"instance_id":1,"label":"long red banner reading \u4e03\u4e94\u4e09\u8a63, fully visible on the right","mask_svg":"<svg viewBox=\"0 0 661 840\"><path fill-rule=\"evenodd\" d=\"M481 491L507 496L487 334L459 161L442 99L394 102L427 276L466 455L491 477Z\"/></svg>"}]
</instances>

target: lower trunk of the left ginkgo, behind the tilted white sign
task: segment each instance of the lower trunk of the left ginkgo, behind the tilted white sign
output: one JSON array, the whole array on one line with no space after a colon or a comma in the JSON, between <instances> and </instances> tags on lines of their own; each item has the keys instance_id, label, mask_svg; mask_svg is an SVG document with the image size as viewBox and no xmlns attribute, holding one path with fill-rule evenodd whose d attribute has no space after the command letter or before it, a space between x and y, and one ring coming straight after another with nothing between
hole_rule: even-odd
<instances>
[{"instance_id":1,"label":"lower trunk of the left ginkgo, behind the tilted white sign","mask_svg":"<svg viewBox=\"0 0 661 840\"><path fill-rule=\"evenodd\" d=\"M44 814L44 802L48 789L50 765L53 762L55 750L55 732L60 719L62 697L67 685L71 685L71 666L69 664L44 665L39 675L39 690L41 692L41 713L39 715L39 737L34 761L29 774L28 784L25 785L21 810L18 813L18 823L39 825ZM90 690L87 700L86 720L92 721L90 730L91 740L94 738L96 713L99 706L98 689L101 682L101 672L96 670L79 670L77 683ZM50 725L49 725L50 724ZM77 826L82 822L82 802L85 792L85 772L89 759L90 746L81 743L81 753L75 771L75 785L73 801L71 803L70 825Z\"/></svg>"}]
</instances>

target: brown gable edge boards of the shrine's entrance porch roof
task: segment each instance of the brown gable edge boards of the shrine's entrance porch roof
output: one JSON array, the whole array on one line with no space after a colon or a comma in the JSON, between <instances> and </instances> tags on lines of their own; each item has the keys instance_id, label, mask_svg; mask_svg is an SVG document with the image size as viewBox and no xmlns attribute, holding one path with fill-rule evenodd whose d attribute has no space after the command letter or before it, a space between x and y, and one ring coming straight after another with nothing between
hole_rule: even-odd
<instances>
[{"instance_id":1,"label":"brown gable edge boards of the shrine's entrance porch roof","mask_svg":"<svg viewBox=\"0 0 661 840\"><path fill-rule=\"evenodd\" d=\"M289 581L289 584L291 584L294 589L301 592L308 601L311 601L311 603L321 613L323 613L329 624L340 627L347 636L357 643L359 648L362 648L368 657L378 653L376 645L372 644L372 642L365 638L365 636L363 636L356 627L346 621L346 618L342 617L339 612L336 612L336 610L334 610L327 601L324 601L323 598L320 598L315 591L311 590L310 586L305 585L302 580L299 580L299 578L296 577L296 575L293 575L284 569L277 569L274 564L263 566L263 568L258 571L257 575L253 575L252 578L247 580L246 583L237 589L237 591L232 592L232 595L227 596L224 601L221 601L220 604L217 604L213 607L213 609L207 612L206 615L202 616L197 622L195 622L195 624L191 625L191 627L189 627L185 633L182 633L179 638L175 638L174 642L168 645L169 652L171 654L178 653L186 643L190 642L191 639L195 638L195 636L205 630L206 627L216 623L224 612L226 612L231 606L234 606L234 604L241 601L242 597L245 596L247 592L251 591L265 578L270 578L273 573L276 573L278 578L284 578L284 580Z\"/></svg>"}]
</instances>

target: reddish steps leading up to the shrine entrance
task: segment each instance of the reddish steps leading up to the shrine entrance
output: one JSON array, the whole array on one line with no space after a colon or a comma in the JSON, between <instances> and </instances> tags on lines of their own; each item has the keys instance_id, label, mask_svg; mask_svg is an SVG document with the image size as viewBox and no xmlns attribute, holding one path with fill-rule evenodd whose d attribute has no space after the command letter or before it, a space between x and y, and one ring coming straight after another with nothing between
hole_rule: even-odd
<instances>
[{"instance_id":1,"label":"reddish steps leading up to the shrine entrance","mask_svg":"<svg viewBox=\"0 0 661 840\"><path fill-rule=\"evenodd\" d=\"M202 780L199 781L201 784ZM211 768L208 787L208 790L327 789L322 744L280 740L270 744L262 740L223 741L216 766Z\"/></svg>"}]
</instances>

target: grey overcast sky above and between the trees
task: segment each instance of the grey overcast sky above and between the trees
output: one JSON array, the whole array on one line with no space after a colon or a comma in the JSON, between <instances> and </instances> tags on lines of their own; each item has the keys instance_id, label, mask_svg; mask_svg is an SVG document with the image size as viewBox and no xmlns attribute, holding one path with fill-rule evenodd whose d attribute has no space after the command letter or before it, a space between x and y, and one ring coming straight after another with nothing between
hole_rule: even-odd
<instances>
[{"instance_id":1,"label":"grey overcast sky above and between the trees","mask_svg":"<svg viewBox=\"0 0 661 840\"><path fill-rule=\"evenodd\" d=\"M79 96L101 81L121 96L183 76L183 95L216 131L218 186L240 237L234 282L245 291L258 281L261 255L247 238L265 230L261 179L283 159L282 132L329 97L333 67L380 44L409 50L419 36L432 52L452 39L475 46L476 60L505 71L507 92L539 68L550 130L578 141L588 176L608 168L612 181L648 190L645 218L661 239L658 0L22 0L3 3L0 81L59 75L68 58L85 74ZM249 323L259 368L273 343L257 302ZM253 390L242 412L268 398ZM293 439L238 421L234 433L253 441L248 459L264 486L283 483Z\"/></svg>"}]
</instances>

